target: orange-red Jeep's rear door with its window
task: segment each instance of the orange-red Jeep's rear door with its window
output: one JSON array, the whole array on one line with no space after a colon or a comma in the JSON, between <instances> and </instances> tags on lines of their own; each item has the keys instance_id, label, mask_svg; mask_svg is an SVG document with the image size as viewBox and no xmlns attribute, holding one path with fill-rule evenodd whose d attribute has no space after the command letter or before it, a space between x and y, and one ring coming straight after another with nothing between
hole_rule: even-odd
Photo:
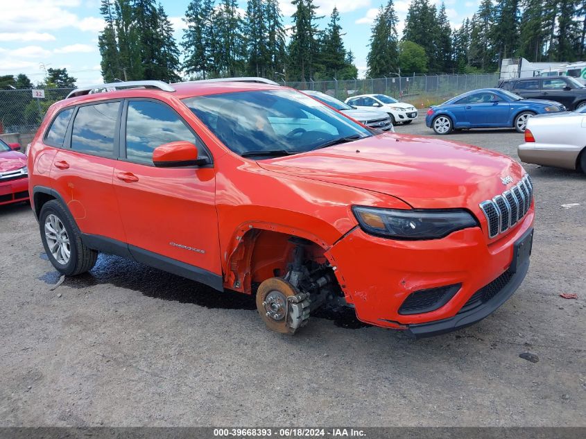
<instances>
[{"instance_id":1,"label":"orange-red Jeep's rear door with its window","mask_svg":"<svg viewBox=\"0 0 586 439\"><path fill-rule=\"evenodd\" d=\"M117 241L125 239L112 186L121 112L121 101L76 107L50 173L81 232Z\"/></svg>"}]
</instances>

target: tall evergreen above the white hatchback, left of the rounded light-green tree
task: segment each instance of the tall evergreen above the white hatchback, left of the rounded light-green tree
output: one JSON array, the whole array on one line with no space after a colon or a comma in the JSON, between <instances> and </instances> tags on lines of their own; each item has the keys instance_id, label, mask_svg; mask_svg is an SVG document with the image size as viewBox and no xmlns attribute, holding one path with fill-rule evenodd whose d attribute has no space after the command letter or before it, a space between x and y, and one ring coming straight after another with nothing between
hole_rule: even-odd
<instances>
[{"instance_id":1,"label":"tall evergreen above the white hatchback, left of the rounded light-green tree","mask_svg":"<svg viewBox=\"0 0 586 439\"><path fill-rule=\"evenodd\" d=\"M366 58L367 74L372 78L396 73L399 68L397 22L393 0L388 0L386 6L381 6L372 24L370 50Z\"/></svg>"}]
</instances>

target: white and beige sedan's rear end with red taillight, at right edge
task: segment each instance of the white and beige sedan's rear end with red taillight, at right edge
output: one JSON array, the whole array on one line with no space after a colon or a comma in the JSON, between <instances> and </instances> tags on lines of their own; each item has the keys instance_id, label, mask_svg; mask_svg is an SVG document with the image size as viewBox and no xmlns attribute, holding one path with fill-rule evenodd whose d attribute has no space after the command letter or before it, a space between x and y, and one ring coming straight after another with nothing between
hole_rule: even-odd
<instances>
[{"instance_id":1,"label":"white and beige sedan's rear end with red taillight, at right edge","mask_svg":"<svg viewBox=\"0 0 586 439\"><path fill-rule=\"evenodd\" d=\"M532 117L517 153L522 162L586 173L586 107Z\"/></svg>"}]
</instances>

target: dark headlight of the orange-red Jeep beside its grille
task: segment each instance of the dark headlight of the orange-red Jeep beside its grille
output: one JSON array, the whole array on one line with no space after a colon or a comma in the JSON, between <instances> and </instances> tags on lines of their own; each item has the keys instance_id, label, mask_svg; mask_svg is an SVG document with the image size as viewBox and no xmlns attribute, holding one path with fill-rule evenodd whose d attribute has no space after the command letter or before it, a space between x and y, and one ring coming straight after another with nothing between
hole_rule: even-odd
<instances>
[{"instance_id":1,"label":"dark headlight of the orange-red Jeep beside its grille","mask_svg":"<svg viewBox=\"0 0 586 439\"><path fill-rule=\"evenodd\" d=\"M352 207L362 230L393 239L440 239L456 230L479 225L470 212L463 209L381 209Z\"/></svg>"}]
</instances>

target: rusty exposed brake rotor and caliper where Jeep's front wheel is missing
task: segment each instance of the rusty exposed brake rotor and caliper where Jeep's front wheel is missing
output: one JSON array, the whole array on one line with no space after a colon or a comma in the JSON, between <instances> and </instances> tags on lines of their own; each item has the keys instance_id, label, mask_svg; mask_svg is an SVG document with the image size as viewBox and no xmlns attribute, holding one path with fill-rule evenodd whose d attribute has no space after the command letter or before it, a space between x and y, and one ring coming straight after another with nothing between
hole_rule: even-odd
<instances>
[{"instance_id":1,"label":"rusty exposed brake rotor and caliper where Jeep's front wheel is missing","mask_svg":"<svg viewBox=\"0 0 586 439\"><path fill-rule=\"evenodd\" d=\"M280 277L271 277L259 285L257 310L269 329L295 334L309 320L309 294L300 293Z\"/></svg>"}]
</instances>

